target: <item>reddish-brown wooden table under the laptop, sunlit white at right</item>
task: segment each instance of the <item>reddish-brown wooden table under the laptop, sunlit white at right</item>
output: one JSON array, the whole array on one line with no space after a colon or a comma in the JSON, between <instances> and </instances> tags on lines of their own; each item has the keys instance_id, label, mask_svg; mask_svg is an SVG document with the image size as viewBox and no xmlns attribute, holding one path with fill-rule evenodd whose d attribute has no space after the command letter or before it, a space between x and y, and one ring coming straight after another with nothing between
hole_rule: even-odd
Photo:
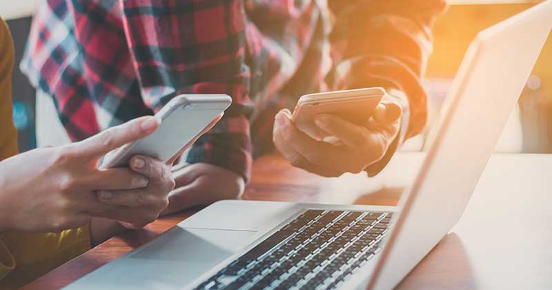
<instances>
[{"instance_id":1,"label":"reddish-brown wooden table under the laptop, sunlit white at right","mask_svg":"<svg viewBox=\"0 0 552 290\"><path fill-rule=\"evenodd\" d=\"M339 204L397 203L423 153L398 153L375 178L322 178L277 155L257 160L247 200ZM399 289L552 289L552 155L493 155L460 222ZM196 210L161 218L146 229L104 242L28 284L63 287L157 237Z\"/></svg>"}]
</instances>

